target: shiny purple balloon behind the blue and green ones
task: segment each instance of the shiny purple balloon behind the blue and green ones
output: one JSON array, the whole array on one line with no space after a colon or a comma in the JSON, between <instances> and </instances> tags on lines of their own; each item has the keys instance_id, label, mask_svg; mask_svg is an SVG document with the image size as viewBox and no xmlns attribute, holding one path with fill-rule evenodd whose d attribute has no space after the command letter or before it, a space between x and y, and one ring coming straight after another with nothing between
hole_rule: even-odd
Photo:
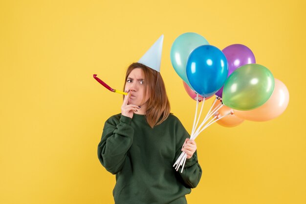
<instances>
[{"instance_id":1,"label":"shiny purple balloon behind the blue and green ones","mask_svg":"<svg viewBox=\"0 0 306 204\"><path fill-rule=\"evenodd\" d=\"M222 50L228 62L229 77L236 69L244 64L255 64L255 56L247 46L243 44L232 44ZM223 86L217 91L216 95L222 98Z\"/></svg>"}]
</instances>

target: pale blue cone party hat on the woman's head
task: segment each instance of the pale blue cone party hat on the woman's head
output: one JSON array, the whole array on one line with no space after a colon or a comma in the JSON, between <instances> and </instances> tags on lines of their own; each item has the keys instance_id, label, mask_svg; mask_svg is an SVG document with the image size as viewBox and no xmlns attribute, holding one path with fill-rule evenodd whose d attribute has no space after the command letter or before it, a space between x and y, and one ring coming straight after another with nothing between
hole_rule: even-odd
<instances>
[{"instance_id":1,"label":"pale blue cone party hat on the woman's head","mask_svg":"<svg viewBox=\"0 0 306 204\"><path fill-rule=\"evenodd\" d=\"M150 49L138 61L158 72L160 72L161 51L163 48L164 35L150 47Z\"/></svg>"}]
</instances>

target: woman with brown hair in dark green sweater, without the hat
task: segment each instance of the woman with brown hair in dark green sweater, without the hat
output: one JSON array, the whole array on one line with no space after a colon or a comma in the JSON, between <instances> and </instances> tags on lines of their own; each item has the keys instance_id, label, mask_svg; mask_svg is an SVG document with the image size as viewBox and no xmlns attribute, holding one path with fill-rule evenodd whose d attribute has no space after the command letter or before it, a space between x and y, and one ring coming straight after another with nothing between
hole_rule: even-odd
<instances>
[{"instance_id":1,"label":"woman with brown hair in dark green sweater, without the hat","mask_svg":"<svg viewBox=\"0 0 306 204\"><path fill-rule=\"evenodd\" d=\"M197 144L170 113L159 72L142 63L127 70L121 113L103 128L98 158L112 174L116 204L187 204L185 195L197 186L202 170ZM182 147L183 145L183 147ZM187 153L183 173L173 167Z\"/></svg>"}]
</instances>

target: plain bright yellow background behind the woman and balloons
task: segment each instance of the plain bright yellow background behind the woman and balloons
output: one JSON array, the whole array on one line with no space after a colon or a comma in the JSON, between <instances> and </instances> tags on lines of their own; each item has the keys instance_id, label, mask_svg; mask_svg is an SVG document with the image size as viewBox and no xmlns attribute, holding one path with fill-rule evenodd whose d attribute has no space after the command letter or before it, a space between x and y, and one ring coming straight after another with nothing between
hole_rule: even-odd
<instances>
[{"instance_id":1,"label":"plain bright yellow background behind the woman and balloons","mask_svg":"<svg viewBox=\"0 0 306 204\"><path fill-rule=\"evenodd\" d=\"M219 49L248 46L290 101L268 122L207 128L197 138L202 178L188 202L306 204L305 8L305 0L1 0L0 203L113 203L115 176L97 145L122 95L92 75L122 90L127 66L164 34L161 74L190 132L196 103L170 49L196 32Z\"/></svg>"}]
</instances>

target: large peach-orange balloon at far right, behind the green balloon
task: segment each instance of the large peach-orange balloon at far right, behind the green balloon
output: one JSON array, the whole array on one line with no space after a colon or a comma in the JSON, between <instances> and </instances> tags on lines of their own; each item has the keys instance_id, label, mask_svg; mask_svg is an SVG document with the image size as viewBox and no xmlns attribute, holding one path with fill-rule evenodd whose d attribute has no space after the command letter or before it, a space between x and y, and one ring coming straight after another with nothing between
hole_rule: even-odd
<instances>
[{"instance_id":1,"label":"large peach-orange balloon at far right, behind the green balloon","mask_svg":"<svg viewBox=\"0 0 306 204\"><path fill-rule=\"evenodd\" d=\"M267 102L253 110L234 110L234 113L248 121L269 121L280 116L289 103L289 91L285 84L275 79L274 90Z\"/></svg>"}]
</instances>

